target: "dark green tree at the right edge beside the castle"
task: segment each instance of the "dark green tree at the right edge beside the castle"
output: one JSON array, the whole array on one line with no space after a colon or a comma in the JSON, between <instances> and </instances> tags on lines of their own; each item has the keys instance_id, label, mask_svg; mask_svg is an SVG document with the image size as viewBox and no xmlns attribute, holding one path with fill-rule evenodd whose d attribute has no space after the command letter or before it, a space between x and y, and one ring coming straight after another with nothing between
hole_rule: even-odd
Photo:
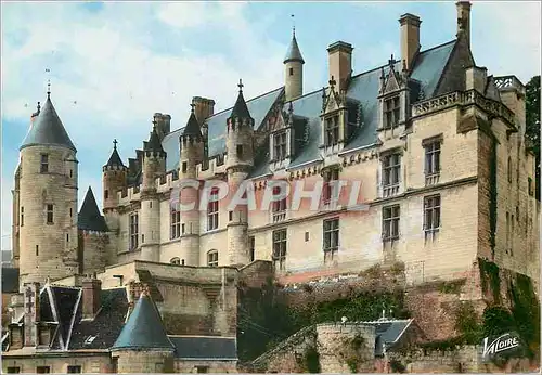
<instances>
[{"instance_id":1,"label":"dark green tree at the right edge beside the castle","mask_svg":"<svg viewBox=\"0 0 542 375\"><path fill-rule=\"evenodd\" d=\"M526 135L535 155L535 194L540 201L540 76L532 77L525 89Z\"/></svg>"}]
</instances>

